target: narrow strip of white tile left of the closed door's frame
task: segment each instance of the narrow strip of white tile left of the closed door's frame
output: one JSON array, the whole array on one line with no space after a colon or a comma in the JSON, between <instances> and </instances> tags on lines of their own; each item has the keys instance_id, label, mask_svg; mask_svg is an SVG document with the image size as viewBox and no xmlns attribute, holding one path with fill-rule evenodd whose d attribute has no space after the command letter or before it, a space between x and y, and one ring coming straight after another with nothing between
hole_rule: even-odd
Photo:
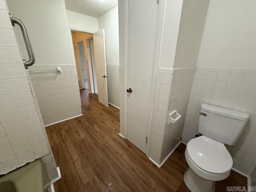
<instances>
[{"instance_id":1,"label":"narrow strip of white tile left of the closed door's frame","mask_svg":"<svg viewBox=\"0 0 256 192\"><path fill-rule=\"evenodd\" d=\"M120 101L120 134L126 136L127 132L124 128L124 66L119 66L119 101Z\"/></svg>"}]
</instances>

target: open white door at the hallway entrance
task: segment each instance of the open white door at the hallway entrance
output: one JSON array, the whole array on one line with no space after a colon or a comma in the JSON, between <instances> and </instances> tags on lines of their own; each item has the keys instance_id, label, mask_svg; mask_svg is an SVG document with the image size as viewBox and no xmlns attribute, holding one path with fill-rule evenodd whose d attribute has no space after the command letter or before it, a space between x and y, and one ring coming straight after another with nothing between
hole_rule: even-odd
<instances>
[{"instance_id":1,"label":"open white door at the hallway entrance","mask_svg":"<svg viewBox=\"0 0 256 192\"><path fill-rule=\"evenodd\" d=\"M98 88L98 100L99 102L108 107L108 82L104 29L98 30L93 34L93 44Z\"/></svg>"}]
</instances>

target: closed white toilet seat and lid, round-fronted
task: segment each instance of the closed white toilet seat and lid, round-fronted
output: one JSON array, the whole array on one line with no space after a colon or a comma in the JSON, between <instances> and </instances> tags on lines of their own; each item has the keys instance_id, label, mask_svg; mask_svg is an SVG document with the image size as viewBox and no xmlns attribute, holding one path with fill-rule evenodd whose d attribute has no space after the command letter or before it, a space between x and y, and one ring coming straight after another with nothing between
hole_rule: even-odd
<instances>
[{"instance_id":1,"label":"closed white toilet seat and lid, round-fronted","mask_svg":"<svg viewBox=\"0 0 256 192\"><path fill-rule=\"evenodd\" d=\"M190 140L185 157L190 168L200 177L218 181L227 178L233 160L224 144L206 136Z\"/></svg>"}]
</instances>

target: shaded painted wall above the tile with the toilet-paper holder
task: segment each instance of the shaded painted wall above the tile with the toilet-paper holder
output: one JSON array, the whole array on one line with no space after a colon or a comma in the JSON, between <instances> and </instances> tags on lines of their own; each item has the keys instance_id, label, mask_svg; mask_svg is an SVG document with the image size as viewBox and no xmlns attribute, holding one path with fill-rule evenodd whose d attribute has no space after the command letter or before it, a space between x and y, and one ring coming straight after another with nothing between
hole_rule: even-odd
<instances>
[{"instance_id":1,"label":"shaded painted wall above the tile with the toilet-paper holder","mask_svg":"<svg viewBox=\"0 0 256 192\"><path fill-rule=\"evenodd\" d=\"M183 0L173 68L195 67L210 0Z\"/></svg>"}]
</instances>

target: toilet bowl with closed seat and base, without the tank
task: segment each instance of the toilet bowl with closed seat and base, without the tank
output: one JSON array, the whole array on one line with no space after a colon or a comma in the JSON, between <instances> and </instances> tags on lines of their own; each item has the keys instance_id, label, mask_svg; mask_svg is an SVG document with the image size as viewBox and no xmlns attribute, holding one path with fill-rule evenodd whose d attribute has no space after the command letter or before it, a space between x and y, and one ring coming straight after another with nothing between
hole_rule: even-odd
<instances>
[{"instance_id":1,"label":"toilet bowl with closed seat and base, without the tank","mask_svg":"<svg viewBox=\"0 0 256 192\"><path fill-rule=\"evenodd\" d=\"M215 181L226 179L233 164L224 144L206 136L188 142L185 158L184 182L192 192L214 192Z\"/></svg>"}]
</instances>

